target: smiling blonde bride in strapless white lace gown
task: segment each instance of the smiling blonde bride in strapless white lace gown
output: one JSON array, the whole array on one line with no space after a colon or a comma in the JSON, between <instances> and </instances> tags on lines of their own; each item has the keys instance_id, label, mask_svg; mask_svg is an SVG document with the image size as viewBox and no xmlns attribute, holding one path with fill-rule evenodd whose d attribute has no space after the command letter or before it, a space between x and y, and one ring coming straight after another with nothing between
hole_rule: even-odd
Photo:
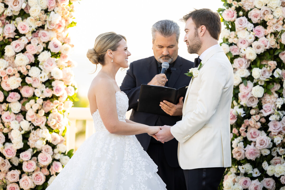
<instances>
[{"instance_id":1,"label":"smiling blonde bride in strapless white lace gown","mask_svg":"<svg viewBox=\"0 0 285 190\"><path fill-rule=\"evenodd\" d=\"M157 166L135 134L154 136L160 128L126 119L128 97L115 75L128 67L126 38L115 32L100 34L87 57L102 69L88 91L96 132L78 148L47 190L146 190L166 189Z\"/></svg>"}]
</instances>

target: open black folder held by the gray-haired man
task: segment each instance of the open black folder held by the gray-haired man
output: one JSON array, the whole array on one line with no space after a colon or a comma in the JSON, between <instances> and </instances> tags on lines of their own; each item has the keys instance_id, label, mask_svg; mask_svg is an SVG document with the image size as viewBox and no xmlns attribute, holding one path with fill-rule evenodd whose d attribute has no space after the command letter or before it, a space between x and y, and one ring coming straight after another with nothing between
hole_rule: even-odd
<instances>
[{"instance_id":1,"label":"open black folder held by the gray-haired man","mask_svg":"<svg viewBox=\"0 0 285 190\"><path fill-rule=\"evenodd\" d=\"M159 106L160 102L166 100L173 104L177 104L179 102L179 98L182 96L184 101L187 88L188 86L175 89L142 84L137 111L169 116Z\"/></svg>"}]
</instances>

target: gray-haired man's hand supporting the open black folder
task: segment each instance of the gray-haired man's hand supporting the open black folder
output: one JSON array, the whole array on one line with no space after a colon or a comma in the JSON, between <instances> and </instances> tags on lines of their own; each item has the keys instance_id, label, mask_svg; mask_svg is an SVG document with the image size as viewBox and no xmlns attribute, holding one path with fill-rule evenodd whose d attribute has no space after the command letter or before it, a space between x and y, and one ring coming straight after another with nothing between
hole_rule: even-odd
<instances>
[{"instance_id":1,"label":"gray-haired man's hand supporting the open black folder","mask_svg":"<svg viewBox=\"0 0 285 190\"><path fill-rule=\"evenodd\" d=\"M171 116L182 115L182 108L183 108L182 100L183 100L183 97L180 97L178 104L173 104L171 102L164 100L163 102L160 102L159 106L165 113Z\"/></svg>"}]
</instances>

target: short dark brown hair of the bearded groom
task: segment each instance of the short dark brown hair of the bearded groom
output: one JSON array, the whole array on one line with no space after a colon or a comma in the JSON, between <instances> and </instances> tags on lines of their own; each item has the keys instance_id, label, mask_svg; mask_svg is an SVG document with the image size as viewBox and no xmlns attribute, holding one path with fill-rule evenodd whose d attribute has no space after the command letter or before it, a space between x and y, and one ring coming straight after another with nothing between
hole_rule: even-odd
<instances>
[{"instance_id":1,"label":"short dark brown hair of the bearded groom","mask_svg":"<svg viewBox=\"0 0 285 190\"><path fill-rule=\"evenodd\" d=\"M206 26L210 35L214 39L219 40L222 30L219 13L213 12L211 9L195 9L195 11L191 11L180 19L180 21L186 22L189 18L193 20L196 28L200 27L201 25Z\"/></svg>"}]
</instances>

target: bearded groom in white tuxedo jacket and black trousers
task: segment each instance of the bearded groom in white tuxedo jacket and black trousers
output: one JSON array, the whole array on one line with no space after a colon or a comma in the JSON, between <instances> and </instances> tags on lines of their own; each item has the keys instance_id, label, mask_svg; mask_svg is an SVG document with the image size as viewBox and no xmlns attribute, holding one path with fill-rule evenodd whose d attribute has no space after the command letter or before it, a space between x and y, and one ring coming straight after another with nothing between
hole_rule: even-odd
<instances>
[{"instance_id":1,"label":"bearded groom in white tuxedo jacket and black trousers","mask_svg":"<svg viewBox=\"0 0 285 190\"><path fill-rule=\"evenodd\" d=\"M178 140L178 160L187 189L217 189L225 167L231 166L230 109L233 68L218 44L221 21L210 9L190 12L182 19L184 42L190 54L198 54L182 109L174 126L162 126L159 141ZM198 60L200 59L200 60Z\"/></svg>"}]
</instances>

